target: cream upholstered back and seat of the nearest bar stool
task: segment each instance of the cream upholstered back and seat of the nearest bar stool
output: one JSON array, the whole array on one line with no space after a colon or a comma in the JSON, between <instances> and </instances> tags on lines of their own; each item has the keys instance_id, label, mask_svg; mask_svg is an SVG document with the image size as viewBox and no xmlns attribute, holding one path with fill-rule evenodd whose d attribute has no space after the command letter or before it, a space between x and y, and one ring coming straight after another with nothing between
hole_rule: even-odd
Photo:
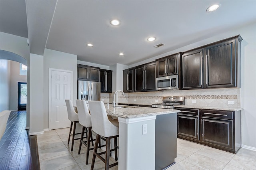
<instances>
[{"instance_id":1,"label":"cream upholstered back and seat of the nearest bar stool","mask_svg":"<svg viewBox=\"0 0 256 170\"><path fill-rule=\"evenodd\" d=\"M104 103L102 101L88 101L88 103L92 119L92 130L104 137L118 135L119 129L108 120Z\"/></svg>"}]
</instances>

